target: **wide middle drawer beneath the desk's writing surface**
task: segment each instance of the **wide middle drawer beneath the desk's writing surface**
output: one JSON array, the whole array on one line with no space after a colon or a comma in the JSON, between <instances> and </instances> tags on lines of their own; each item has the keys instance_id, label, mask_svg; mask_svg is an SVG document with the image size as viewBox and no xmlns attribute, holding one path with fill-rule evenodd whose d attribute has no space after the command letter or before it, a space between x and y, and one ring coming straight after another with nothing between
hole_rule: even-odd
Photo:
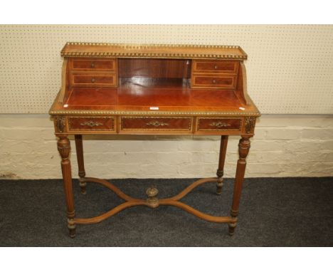
<instances>
[{"instance_id":1,"label":"wide middle drawer beneath the desk's writing surface","mask_svg":"<svg viewBox=\"0 0 333 272\"><path fill-rule=\"evenodd\" d=\"M120 131L128 130L191 132L192 117L120 117Z\"/></svg>"}]
</instances>

